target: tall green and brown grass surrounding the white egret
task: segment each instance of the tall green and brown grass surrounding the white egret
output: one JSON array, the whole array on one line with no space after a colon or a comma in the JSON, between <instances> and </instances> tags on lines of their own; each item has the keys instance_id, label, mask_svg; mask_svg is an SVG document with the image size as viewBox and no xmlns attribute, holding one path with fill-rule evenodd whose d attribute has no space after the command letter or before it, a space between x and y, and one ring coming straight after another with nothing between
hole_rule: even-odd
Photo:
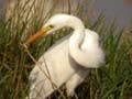
<instances>
[{"instance_id":1,"label":"tall green and brown grass surrounding the white egret","mask_svg":"<svg viewBox=\"0 0 132 99\"><path fill-rule=\"evenodd\" d=\"M47 20L41 14L38 16L33 14L31 19L28 19L31 11L26 13L23 10L28 2L21 8L19 6L21 3L16 3L18 9L9 20L0 19L0 99L24 99L28 96L28 77L34 62L21 44L42 26L42 20L44 22ZM47 18L54 13L53 9ZM67 13L70 13L70 6L68 9ZM76 97L73 99L131 99L132 54L130 51L132 41L128 38L124 42L122 37L124 31L117 31L114 21L107 24L101 14L91 23L88 19L84 19L86 14L82 15L82 4L78 4L75 14L84 20L86 28L100 34L100 42L106 52L106 65L99 69L91 69L90 76L76 89ZM29 25L30 29L28 29ZM57 31L61 33L36 41L29 47L30 53L37 61L55 41L68 34L69 31L61 30ZM25 38L22 38L23 33L26 33ZM64 95L67 98L66 94ZM64 99L57 92L53 94L53 99L57 99L56 96Z\"/></svg>"}]
</instances>

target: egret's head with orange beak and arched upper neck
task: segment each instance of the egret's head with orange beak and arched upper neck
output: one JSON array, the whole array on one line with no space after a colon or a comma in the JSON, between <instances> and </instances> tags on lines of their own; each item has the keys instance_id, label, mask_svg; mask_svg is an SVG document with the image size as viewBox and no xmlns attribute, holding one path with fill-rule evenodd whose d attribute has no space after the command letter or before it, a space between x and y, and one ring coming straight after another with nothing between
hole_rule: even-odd
<instances>
[{"instance_id":1,"label":"egret's head with orange beak and arched upper neck","mask_svg":"<svg viewBox=\"0 0 132 99\"><path fill-rule=\"evenodd\" d=\"M53 15L46 23L45 25L31 38L29 38L24 44L28 45L32 43L33 41L37 40L44 34L51 34L56 30L59 30L64 26L69 26L74 30L82 30L85 29L81 20L74 15L68 15L68 14L56 14Z\"/></svg>"}]
</instances>

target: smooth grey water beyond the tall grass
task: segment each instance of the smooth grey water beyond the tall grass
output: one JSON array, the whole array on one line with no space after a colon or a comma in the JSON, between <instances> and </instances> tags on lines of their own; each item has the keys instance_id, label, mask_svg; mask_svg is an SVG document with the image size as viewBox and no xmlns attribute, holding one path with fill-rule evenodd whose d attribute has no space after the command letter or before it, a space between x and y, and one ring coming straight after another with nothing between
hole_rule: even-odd
<instances>
[{"instance_id":1,"label":"smooth grey water beyond the tall grass","mask_svg":"<svg viewBox=\"0 0 132 99\"><path fill-rule=\"evenodd\" d=\"M89 7L95 10L97 15L99 13L106 15L108 23L114 18L117 19L117 25L119 28L128 26L132 23L132 4L124 3L124 0L89 0ZM4 3L6 0L0 0L0 8L2 8Z\"/></svg>"}]
</instances>

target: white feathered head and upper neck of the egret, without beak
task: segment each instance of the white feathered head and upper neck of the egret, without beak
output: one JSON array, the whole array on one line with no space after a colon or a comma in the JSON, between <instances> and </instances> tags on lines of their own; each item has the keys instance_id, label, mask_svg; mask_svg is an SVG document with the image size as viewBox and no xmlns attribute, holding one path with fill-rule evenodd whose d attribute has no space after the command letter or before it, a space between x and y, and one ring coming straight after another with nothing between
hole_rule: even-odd
<instances>
[{"instance_id":1,"label":"white feathered head and upper neck of the egret, without beak","mask_svg":"<svg viewBox=\"0 0 132 99\"><path fill-rule=\"evenodd\" d=\"M47 28L47 26L53 26L53 29L51 31L48 31L50 34L51 32L54 32L56 30L59 30L62 28L68 26L72 28L74 30L77 29L85 29L82 22L80 19L74 16L74 15L69 15L69 14L56 14L53 15L43 26L43 29Z\"/></svg>"}]
</instances>

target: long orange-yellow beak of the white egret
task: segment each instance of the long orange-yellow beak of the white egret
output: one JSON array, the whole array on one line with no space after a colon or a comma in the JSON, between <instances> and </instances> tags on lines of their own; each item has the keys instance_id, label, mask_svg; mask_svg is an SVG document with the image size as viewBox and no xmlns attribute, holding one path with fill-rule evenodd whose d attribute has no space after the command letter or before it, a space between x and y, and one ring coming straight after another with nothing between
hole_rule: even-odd
<instances>
[{"instance_id":1,"label":"long orange-yellow beak of the white egret","mask_svg":"<svg viewBox=\"0 0 132 99\"><path fill-rule=\"evenodd\" d=\"M38 32L36 32L34 35L32 35L25 43L24 45L29 45L32 42L34 42L35 40L40 38L41 36L43 36L46 32L48 32L50 30L52 30L53 26L48 25L46 28L41 29Z\"/></svg>"}]
</instances>

